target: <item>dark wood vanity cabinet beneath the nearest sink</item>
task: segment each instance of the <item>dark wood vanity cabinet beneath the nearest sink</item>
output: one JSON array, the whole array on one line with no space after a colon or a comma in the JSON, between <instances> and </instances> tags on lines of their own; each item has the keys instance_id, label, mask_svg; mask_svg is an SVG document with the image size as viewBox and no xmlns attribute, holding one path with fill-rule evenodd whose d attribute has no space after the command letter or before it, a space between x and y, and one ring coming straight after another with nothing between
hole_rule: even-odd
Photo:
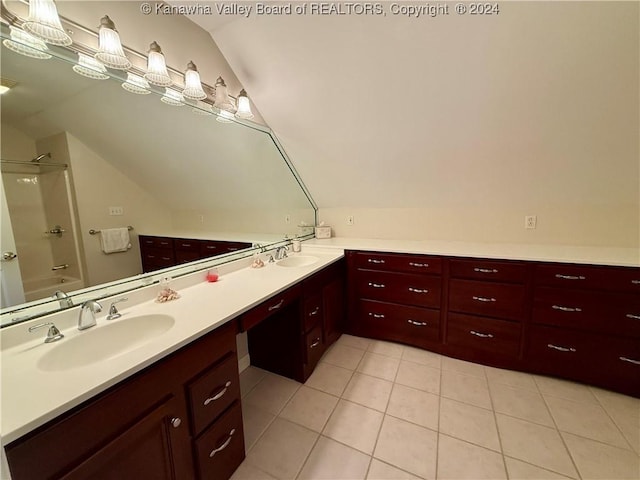
<instances>
[{"instance_id":1,"label":"dark wood vanity cabinet beneath the nearest sink","mask_svg":"<svg viewBox=\"0 0 640 480\"><path fill-rule=\"evenodd\" d=\"M219 448L203 439L215 437L220 419L238 405L236 331L229 322L10 443L12 478L228 478L244 458L239 408L234 442L225 447L227 476L202 475L207 467L194 449ZM203 396L212 400L203 405Z\"/></svg>"}]
</instances>

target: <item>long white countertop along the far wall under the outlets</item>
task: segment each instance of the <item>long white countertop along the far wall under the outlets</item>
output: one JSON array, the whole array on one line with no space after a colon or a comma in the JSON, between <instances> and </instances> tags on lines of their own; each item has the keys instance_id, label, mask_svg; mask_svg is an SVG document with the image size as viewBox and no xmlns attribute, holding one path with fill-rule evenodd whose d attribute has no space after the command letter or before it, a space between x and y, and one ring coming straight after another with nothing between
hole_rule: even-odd
<instances>
[{"instance_id":1,"label":"long white countertop along the far wall under the outlets","mask_svg":"<svg viewBox=\"0 0 640 480\"><path fill-rule=\"evenodd\" d=\"M419 253L452 257L533 260L626 267L640 266L640 248L453 242L443 240L378 240L345 237L313 239L305 242L305 245L333 247L340 250Z\"/></svg>"}]
</instances>

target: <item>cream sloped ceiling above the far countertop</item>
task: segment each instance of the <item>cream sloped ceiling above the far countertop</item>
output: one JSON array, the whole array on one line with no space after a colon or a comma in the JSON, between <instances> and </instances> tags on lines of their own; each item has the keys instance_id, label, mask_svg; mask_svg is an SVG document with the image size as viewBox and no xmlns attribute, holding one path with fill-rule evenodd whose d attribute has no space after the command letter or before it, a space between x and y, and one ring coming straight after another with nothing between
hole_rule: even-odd
<instances>
[{"instance_id":1,"label":"cream sloped ceiling above the far countertop","mask_svg":"<svg viewBox=\"0 0 640 480\"><path fill-rule=\"evenodd\" d=\"M501 2L485 16L449 3L421 18L383 4L191 17L320 208L637 203L636 2Z\"/></svg>"}]
</instances>

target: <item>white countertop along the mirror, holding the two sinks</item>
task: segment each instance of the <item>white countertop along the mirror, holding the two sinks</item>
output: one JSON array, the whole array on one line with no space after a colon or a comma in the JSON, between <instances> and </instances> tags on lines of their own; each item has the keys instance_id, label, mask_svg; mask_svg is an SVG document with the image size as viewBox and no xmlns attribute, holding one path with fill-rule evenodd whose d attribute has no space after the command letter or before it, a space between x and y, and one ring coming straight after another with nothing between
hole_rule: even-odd
<instances>
[{"instance_id":1,"label":"white countertop along the mirror, holding the two sinks","mask_svg":"<svg viewBox=\"0 0 640 480\"><path fill-rule=\"evenodd\" d=\"M98 325L87 331L126 321L127 317L152 313L173 316L175 325L131 351L106 361L79 365L71 370L44 372L38 369L37 362L44 353L61 342L84 333L77 329L79 308L2 329L0 434L3 445L235 319L343 256L339 249L305 246L303 252L318 257L319 261L309 266L290 268L267 263L264 268L252 269L249 267L249 258L219 267L220 278L215 283L207 283L204 272L176 279L171 287L178 291L181 298L167 303L155 302L158 285L146 287L128 295L129 301L118 305L122 318L111 322L105 320L109 301L101 300L104 308L97 315ZM234 267L238 269L230 271ZM191 286L188 286L189 283ZM32 334L26 333L29 326L47 321L54 321L65 338L45 344L46 328Z\"/></svg>"}]
</instances>

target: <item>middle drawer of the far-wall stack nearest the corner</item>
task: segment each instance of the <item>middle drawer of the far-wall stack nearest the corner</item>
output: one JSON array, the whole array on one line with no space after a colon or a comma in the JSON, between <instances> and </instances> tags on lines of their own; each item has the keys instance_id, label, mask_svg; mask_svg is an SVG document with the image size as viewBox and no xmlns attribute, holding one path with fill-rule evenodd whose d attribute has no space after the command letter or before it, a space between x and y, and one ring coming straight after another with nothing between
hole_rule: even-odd
<instances>
[{"instance_id":1,"label":"middle drawer of the far-wall stack nearest the corner","mask_svg":"<svg viewBox=\"0 0 640 480\"><path fill-rule=\"evenodd\" d=\"M440 308L440 277L360 270L357 288L361 298Z\"/></svg>"}]
</instances>

